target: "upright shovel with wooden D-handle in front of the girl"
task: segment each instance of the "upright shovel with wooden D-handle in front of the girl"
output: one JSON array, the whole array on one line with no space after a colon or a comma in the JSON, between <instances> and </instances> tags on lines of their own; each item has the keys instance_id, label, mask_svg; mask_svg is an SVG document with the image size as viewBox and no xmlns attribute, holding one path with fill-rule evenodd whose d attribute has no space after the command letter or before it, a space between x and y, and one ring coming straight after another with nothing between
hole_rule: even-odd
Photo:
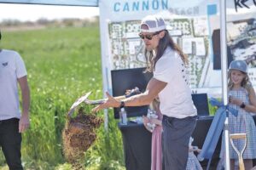
<instances>
[{"instance_id":1,"label":"upright shovel with wooden D-handle in front of the girl","mask_svg":"<svg viewBox=\"0 0 256 170\"><path fill-rule=\"evenodd\" d=\"M233 143L233 139L244 139L244 146L241 149L241 152L236 148L235 144ZM230 134L230 142L231 145L233 147L234 150L236 150L238 159L239 159L239 170L244 170L244 163L243 163L243 159L242 159L242 154L244 152L244 150L247 147L247 133L234 133L234 134Z\"/></svg>"}]
</instances>

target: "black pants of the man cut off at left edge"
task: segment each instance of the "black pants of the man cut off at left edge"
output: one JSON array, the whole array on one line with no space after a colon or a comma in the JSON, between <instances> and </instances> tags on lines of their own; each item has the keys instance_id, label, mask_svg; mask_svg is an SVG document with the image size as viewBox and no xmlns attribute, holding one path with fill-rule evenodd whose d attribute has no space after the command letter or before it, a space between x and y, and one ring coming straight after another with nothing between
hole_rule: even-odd
<instances>
[{"instance_id":1,"label":"black pants of the man cut off at left edge","mask_svg":"<svg viewBox=\"0 0 256 170\"><path fill-rule=\"evenodd\" d=\"M0 147L10 170L23 170L21 166L21 133L19 119L0 121Z\"/></svg>"}]
</instances>

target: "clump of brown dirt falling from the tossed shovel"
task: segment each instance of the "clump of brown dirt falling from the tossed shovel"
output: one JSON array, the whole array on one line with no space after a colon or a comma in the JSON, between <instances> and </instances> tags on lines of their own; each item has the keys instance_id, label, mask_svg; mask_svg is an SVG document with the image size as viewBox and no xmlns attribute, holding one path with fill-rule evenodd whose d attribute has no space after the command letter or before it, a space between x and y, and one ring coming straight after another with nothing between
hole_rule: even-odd
<instances>
[{"instance_id":1,"label":"clump of brown dirt falling from the tossed shovel","mask_svg":"<svg viewBox=\"0 0 256 170\"><path fill-rule=\"evenodd\" d=\"M67 116L67 123L62 132L64 156L67 161L79 169L78 161L84 157L96 140L96 128L100 127L103 120L95 114L87 114L83 107L75 117Z\"/></svg>"}]
</instances>

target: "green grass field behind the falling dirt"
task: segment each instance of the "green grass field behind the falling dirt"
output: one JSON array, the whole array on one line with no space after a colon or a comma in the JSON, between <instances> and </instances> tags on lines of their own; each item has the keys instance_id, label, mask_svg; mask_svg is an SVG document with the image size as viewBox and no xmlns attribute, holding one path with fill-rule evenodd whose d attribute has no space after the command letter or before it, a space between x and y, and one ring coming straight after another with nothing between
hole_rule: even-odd
<instances>
[{"instance_id":1,"label":"green grass field behind the falling dirt","mask_svg":"<svg viewBox=\"0 0 256 170\"><path fill-rule=\"evenodd\" d=\"M102 98L99 27L49 27L2 34L0 47L20 53L31 88L31 127L22 136L24 166L72 169L62 154L61 131L75 99L88 91L92 91L90 99ZM102 126L96 143L82 158L86 169L124 169L121 134L112 112L109 116L108 132ZM1 167L6 168L2 153Z\"/></svg>"}]
</instances>

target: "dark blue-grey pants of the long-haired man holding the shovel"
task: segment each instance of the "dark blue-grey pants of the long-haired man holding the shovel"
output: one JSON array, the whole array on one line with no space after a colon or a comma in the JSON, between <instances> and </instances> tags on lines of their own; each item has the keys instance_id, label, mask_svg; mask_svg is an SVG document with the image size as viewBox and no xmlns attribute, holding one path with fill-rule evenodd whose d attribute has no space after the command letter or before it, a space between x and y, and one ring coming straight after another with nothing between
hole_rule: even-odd
<instances>
[{"instance_id":1,"label":"dark blue-grey pants of the long-haired man holding the shovel","mask_svg":"<svg viewBox=\"0 0 256 170\"><path fill-rule=\"evenodd\" d=\"M189 138L197 116L183 119L163 116L162 153L163 170L185 170L189 156Z\"/></svg>"}]
</instances>

